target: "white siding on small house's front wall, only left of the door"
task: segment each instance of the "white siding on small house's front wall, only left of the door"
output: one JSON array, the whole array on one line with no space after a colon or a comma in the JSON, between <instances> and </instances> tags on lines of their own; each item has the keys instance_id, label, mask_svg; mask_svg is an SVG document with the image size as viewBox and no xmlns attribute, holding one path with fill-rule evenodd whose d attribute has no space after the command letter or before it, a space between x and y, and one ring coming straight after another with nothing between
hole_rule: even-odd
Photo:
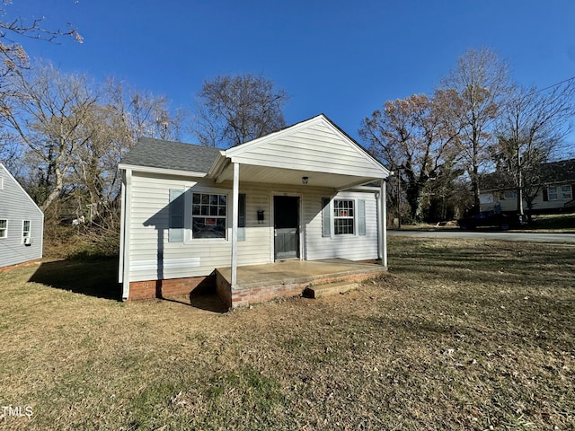
<instances>
[{"instance_id":1,"label":"white siding on small house's front wall, only left of the door","mask_svg":"<svg viewBox=\"0 0 575 431\"><path fill-rule=\"evenodd\" d=\"M184 242L167 241L169 189L185 189ZM244 238L238 242L238 263L250 265L270 261L270 195L258 186L241 186L245 198ZM231 189L210 181L196 182L180 177L158 177L133 172L132 207L129 225L130 281L209 275L215 268L231 263L231 210L226 211L226 239L191 237L191 194L212 193L231 196ZM228 199L229 200L229 199ZM231 205L228 202L228 206ZM264 220L257 221L257 211ZM160 255L160 261L157 256ZM158 265L160 261L160 265Z\"/></svg>"}]
</instances>

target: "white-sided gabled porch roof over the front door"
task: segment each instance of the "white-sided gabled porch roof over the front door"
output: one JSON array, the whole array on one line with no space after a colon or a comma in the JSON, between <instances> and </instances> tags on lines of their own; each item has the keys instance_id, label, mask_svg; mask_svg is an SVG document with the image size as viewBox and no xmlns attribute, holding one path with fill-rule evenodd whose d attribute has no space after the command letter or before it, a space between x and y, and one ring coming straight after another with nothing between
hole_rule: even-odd
<instances>
[{"instance_id":1,"label":"white-sided gabled porch roof over the front door","mask_svg":"<svg viewBox=\"0 0 575 431\"><path fill-rule=\"evenodd\" d=\"M387 178L389 171L323 114L267 136L222 151L209 176L240 181L307 184L346 189Z\"/></svg>"}]
</instances>

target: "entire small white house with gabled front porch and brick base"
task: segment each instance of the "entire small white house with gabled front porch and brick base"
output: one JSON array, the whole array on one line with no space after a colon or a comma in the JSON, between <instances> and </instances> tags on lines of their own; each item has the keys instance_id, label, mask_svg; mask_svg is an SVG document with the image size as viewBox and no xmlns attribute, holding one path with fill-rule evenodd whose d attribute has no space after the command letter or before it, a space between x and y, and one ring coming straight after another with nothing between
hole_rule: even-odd
<instances>
[{"instance_id":1,"label":"entire small white house with gabled front porch and brick base","mask_svg":"<svg viewBox=\"0 0 575 431\"><path fill-rule=\"evenodd\" d=\"M386 269L389 172L324 115L227 150L143 138L119 167L124 300L215 285L231 308Z\"/></svg>"}]
</instances>

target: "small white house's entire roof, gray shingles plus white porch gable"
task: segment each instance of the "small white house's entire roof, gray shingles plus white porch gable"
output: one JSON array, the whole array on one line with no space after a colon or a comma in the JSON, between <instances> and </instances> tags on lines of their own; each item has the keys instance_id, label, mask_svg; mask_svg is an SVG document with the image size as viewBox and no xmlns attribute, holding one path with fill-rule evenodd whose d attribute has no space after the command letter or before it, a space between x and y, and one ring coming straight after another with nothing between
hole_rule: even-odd
<instances>
[{"instance_id":1,"label":"small white house's entire roof, gray shingles plus white porch gable","mask_svg":"<svg viewBox=\"0 0 575 431\"><path fill-rule=\"evenodd\" d=\"M119 167L222 182L232 178L230 161L242 164L243 177L255 182L301 182L306 172L315 172L314 185L342 187L389 175L383 164L323 114L227 150L140 138Z\"/></svg>"}]
</instances>

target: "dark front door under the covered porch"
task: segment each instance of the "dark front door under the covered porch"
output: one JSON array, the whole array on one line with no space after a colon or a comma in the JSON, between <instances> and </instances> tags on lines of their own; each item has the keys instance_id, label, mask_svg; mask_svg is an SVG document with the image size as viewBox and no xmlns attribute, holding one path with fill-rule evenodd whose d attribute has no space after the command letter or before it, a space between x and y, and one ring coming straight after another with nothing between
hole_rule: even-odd
<instances>
[{"instance_id":1,"label":"dark front door under the covered porch","mask_svg":"<svg viewBox=\"0 0 575 431\"><path fill-rule=\"evenodd\" d=\"M299 258L299 198L273 197L275 259Z\"/></svg>"}]
</instances>

